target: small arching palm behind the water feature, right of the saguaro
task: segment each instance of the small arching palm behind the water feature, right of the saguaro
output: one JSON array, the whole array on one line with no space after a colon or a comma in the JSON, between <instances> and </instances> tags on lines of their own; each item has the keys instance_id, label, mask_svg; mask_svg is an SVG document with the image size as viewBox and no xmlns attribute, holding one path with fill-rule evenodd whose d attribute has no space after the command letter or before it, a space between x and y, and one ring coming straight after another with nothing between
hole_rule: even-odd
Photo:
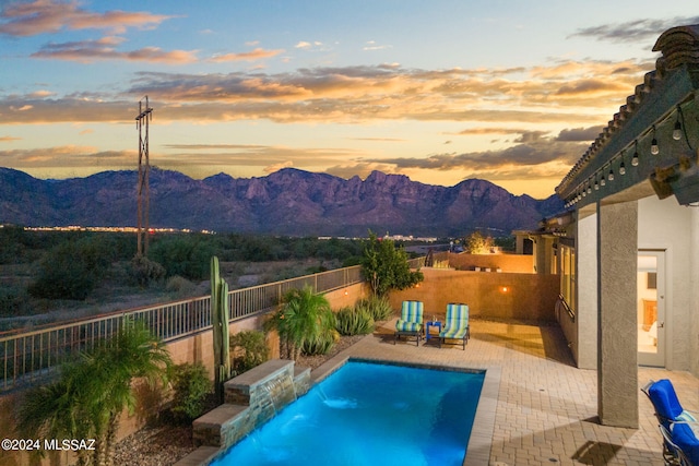
<instances>
[{"instance_id":1,"label":"small arching palm behind the water feature, right of the saguaro","mask_svg":"<svg viewBox=\"0 0 699 466\"><path fill-rule=\"evenodd\" d=\"M327 353L336 335L335 318L328 299L315 294L310 286L288 290L282 308L269 321L268 327L279 332L294 360L305 348Z\"/></svg>"}]
</instances>

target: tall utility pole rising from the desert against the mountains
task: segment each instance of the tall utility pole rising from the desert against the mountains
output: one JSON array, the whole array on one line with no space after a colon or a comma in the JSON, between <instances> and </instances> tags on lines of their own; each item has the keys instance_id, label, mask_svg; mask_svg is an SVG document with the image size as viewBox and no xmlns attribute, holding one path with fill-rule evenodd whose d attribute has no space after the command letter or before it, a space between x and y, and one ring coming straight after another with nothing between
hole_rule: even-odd
<instances>
[{"instance_id":1,"label":"tall utility pole rising from the desert against the mountains","mask_svg":"<svg viewBox=\"0 0 699 466\"><path fill-rule=\"evenodd\" d=\"M139 115L135 117L135 128L139 130L139 184L138 191L138 242L137 256L149 253L149 211L151 207L151 189L149 175L151 163L149 156L149 122L153 119L153 109L149 106L149 96L139 100Z\"/></svg>"}]
</instances>

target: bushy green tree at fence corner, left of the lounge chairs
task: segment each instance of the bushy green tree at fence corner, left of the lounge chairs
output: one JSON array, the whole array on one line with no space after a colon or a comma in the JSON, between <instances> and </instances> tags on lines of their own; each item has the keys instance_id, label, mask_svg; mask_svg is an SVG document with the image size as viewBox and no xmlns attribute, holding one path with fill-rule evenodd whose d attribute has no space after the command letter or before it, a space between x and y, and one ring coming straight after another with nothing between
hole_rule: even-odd
<instances>
[{"instance_id":1,"label":"bushy green tree at fence corner, left of the lounge chairs","mask_svg":"<svg viewBox=\"0 0 699 466\"><path fill-rule=\"evenodd\" d=\"M391 289L410 288L424 279L422 272L411 271L403 248L396 248L392 240L377 238L372 231L365 243L362 274L378 297Z\"/></svg>"}]
</instances>

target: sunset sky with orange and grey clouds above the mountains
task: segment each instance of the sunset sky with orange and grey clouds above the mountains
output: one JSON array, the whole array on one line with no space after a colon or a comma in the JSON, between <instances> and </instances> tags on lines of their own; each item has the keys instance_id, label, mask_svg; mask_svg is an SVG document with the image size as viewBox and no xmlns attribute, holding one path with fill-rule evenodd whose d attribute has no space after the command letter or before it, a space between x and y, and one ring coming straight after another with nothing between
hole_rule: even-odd
<instances>
[{"instance_id":1,"label":"sunset sky with orange and grey clouds above the mountains","mask_svg":"<svg viewBox=\"0 0 699 466\"><path fill-rule=\"evenodd\" d=\"M469 178L546 198L697 0L0 1L0 166Z\"/></svg>"}]
</instances>

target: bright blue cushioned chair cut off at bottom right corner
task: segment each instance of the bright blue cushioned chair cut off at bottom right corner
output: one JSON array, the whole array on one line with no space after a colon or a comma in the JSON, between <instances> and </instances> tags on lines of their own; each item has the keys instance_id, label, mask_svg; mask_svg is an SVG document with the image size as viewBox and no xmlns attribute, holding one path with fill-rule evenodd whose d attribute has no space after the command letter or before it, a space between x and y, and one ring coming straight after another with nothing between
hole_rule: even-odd
<instances>
[{"instance_id":1,"label":"bright blue cushioned chair cut off at bottom right corner","mask_svg":"<svg viewBox=\"0 0 699 466\"><path fill-rule=\"evenodd\" d=\"M653 404L660 422L665 464L699 466L699 440L690 426L699 423L691 411L683 408L672 382L651 380L641 391Z\"/></svg>"}]
</instances>

